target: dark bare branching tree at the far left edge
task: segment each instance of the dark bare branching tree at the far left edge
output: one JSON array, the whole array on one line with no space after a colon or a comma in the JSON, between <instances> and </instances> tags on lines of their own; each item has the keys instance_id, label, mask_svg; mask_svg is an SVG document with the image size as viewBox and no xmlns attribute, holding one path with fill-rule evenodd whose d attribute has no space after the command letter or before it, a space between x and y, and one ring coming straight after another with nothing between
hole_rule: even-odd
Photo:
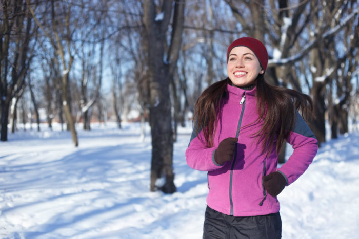
<instances>
[{"instance_id":1,"label":"dark bare branching tree at the far left edge","mask_svg":"<svg viewBox=\"0 0 359 239\"><path fill-rule=\"evenodd\" d=\"M24 87L29 68L28 51L33 34L32 17L24 1L2 1L0 25L0 111L1 141L7 141L12 98ZM13 54L11 54L11 52Z\"/></svg>"}]
</instances>

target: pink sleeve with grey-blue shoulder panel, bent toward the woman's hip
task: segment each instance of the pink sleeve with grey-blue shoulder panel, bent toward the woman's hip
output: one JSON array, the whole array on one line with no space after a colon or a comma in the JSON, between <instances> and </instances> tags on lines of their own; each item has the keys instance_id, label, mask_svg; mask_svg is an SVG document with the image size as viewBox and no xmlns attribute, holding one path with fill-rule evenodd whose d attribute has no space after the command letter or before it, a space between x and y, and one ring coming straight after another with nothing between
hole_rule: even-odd
<instances>
[{"instance_id":1,"label":"pink sleeve with grey-blue shoulder panel, bent toward the woman's hip","mask_svg":"<svg viewBox=\"0 0 359 239\"><path fill-rule=\"evenodd\" d=\"M294 127L289 133L287 142L292 145L293 154L277 171L285 176L289 185L304 173L318 150L318 141L298 112L296 112Z\"/></svg>"}]
</instances>

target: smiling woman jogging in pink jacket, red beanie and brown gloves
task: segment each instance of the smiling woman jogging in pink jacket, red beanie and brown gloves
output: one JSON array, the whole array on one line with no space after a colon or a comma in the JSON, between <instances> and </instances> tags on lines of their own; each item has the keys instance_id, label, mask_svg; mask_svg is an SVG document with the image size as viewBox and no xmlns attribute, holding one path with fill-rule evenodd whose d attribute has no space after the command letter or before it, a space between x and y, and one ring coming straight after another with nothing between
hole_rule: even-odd
<instances>
[{"instance_id":1,"label":"smiling woman jogging in pink jacket, red beanie and brown gloves","mask_svg":"<svg viewBox=\"0 0 359 239\"><path fill-rule=\"evenodd\" d=\"M317 140L298 113L311 110L310 97L267 84L267 63L261 41L236 39L227 50L228 78L196 102L186 160L208 171L203 238L281 238L276 196L316 155ZM294 151L277 169L284 140Z\"/></svg>"}]
</instances>

